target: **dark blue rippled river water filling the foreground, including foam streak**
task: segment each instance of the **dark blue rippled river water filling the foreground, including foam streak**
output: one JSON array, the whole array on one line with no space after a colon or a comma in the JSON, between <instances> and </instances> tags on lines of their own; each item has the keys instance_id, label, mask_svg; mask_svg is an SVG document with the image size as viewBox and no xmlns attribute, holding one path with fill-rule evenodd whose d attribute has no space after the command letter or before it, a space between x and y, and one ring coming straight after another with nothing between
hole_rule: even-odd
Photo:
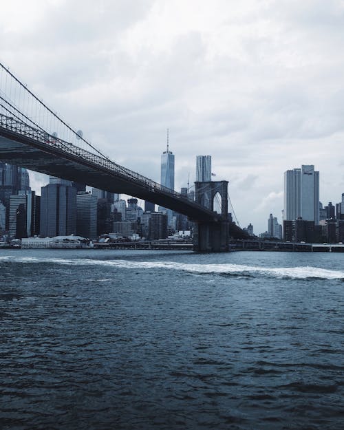
<instances>
[{"instance_id":1,"label":"dark blue rippled river water filling the foreground, including foam streak","mask_svg":"<svg viewBox=\"0 0 344 430\"><path fill-rule=\"evenodd\" d=\"M327 253L1 250L1 429L343 429Z\"/></svg>"}]
</instances>

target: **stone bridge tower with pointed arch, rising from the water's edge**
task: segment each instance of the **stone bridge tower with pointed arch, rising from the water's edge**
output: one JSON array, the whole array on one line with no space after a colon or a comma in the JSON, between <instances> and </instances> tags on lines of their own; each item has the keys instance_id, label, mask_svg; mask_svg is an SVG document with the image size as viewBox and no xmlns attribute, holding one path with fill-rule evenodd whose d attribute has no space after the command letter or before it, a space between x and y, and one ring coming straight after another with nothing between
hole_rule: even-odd
<instances>
[{"instance_id":1,"label":"stone bridge tower with pointed arch, rising from the water's edge","mask_svg":"<svg viewBox=\"0 0 344 430\"><path fill-rule=\"evenodd\" d=\"M221 202L213 222L197 222L193 232L193 250L226 252L229 250L228 181L195 182L195 201L214 211L214 202Z\"/></svg>"}]
</instances>

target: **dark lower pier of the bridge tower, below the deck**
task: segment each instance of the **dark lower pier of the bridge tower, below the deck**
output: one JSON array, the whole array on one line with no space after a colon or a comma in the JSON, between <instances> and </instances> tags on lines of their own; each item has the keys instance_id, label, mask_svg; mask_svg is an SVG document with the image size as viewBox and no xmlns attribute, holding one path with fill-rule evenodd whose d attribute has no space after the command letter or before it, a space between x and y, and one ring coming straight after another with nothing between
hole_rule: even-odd
<instances>
[{"instance_id":1,"label":"dark lower pier of the bridge tower, below the deck","mask_svg":"<svg viewBox=\"0 0 344 430\"><path fill-rule=\"evenodd\" d=\"M196 252L228 252L229 222L195 223L193 250Z\"/></svg>"}]
</instances>

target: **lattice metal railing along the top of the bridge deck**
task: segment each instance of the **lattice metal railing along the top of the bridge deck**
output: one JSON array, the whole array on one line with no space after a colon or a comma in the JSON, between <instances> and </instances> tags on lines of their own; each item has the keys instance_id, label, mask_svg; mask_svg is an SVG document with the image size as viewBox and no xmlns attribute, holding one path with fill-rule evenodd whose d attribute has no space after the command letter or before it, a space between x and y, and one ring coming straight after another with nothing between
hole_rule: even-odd
<instances>
[{"instance_id":1,"label":"lattice metal railing along the top of the bridge deck","mask_svg":"<svg viewBox=\"0 0 344 430\"><path fill-rule=\"evenodd\" d=\"M207 212L209 215L212 214L212 212L204 208L204 206L197 204L196 202L190 201L188 197L184 194L171 190L166 186L162 186L161 184L158 184L158 182L146 178L145 176L140 175L140 173L131 171L126 167L120 166L120 164L116 164L108 158L101 157L100 155L86 151L85 149L80 148L70 142L65 142L65 140L61 140L60 138L57 138L52 134L46 133L41 129L35 129L34 127L25 124L25 122L22 122L21 120L14 118L13 116L6 116L0 114L0 127L12 131L14 133L18 133L22 136L31 138L37 142L40 142L41 144L58 149L59 151L63 151L68 155L75 155L78 158L87 160L87 162L92 162L96 164L96 166L102 166L111 172L116 172L118 175L121 175L127 180L129 179L131 181L135 181L140 186L144 185L150 191L158 191L160 193L164 193L165 195L173 195L173 197L183 200L184 202L188 202L188 204L204 212Z\"/></svg>"}]
</instances>

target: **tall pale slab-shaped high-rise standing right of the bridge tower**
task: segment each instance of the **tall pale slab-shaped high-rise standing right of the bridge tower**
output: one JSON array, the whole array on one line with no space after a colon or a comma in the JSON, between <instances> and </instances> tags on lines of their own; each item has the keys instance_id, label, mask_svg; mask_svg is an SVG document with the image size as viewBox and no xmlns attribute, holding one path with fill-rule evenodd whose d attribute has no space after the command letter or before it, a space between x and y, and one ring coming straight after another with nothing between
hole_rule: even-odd
<instances>
[{"instance_id":1,"label":"tall pale slab-shaped high-rise standing right of the bridge tower","mask_svg":"<svg viewBox=\"0 0 344 430\"><path fill-rule=\"evenodd\" d=\"M284 172L284 219L319 224L319 171L313 165Z\"/></svg>"}]
</instances>

